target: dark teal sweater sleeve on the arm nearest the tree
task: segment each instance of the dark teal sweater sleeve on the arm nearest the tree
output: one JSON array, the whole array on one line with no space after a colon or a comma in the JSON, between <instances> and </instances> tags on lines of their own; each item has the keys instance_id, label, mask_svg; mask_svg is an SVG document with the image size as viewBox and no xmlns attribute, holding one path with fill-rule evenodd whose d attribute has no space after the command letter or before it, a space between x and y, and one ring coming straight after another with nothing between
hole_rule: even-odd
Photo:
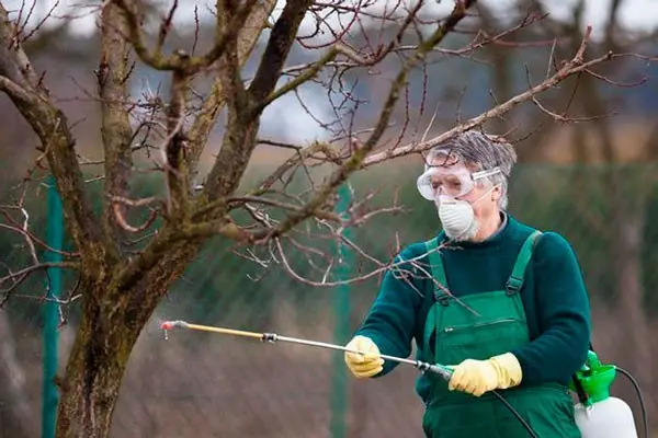
<instances>
[{"instance_id":1,"label":"dark teal sweater sleeve on the arm nearest the tree","mask_svg":"<svg viewBox=\"0 0 658 438\"><path fill-rule=\"evenodd\" d=\"M411 354L418 309L422 302L421 283L411 263L400 263L415 256L410 246L395 260L399 265L386 272L377 298L356 335L370 337L379 353L401 358ZM386 360L384 369L375 377L390 372L398 362Z\"/></svg>"}]
</instances>

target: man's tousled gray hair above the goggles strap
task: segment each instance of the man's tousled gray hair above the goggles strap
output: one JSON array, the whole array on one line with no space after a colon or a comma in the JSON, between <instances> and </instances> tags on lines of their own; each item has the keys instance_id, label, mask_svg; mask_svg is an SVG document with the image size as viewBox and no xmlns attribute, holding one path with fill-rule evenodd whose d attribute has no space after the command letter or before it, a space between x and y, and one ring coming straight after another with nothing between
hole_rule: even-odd
<instances>
[{"instance_id":1,"label":"man's tousled gray hair above the goggles strap","mask_svg":"<svg viewBox=\"0 0 658 438\"><path fill-rule=\"evenodd\" d=\"M469 130L458 134L443 143L435 146L432 152L447 152L451 159L456 159L474 172L486 171L496 166L500 173L489 175L480 181L491 185L500 185L501 196L498 206L504 210L508 206L508 178L517 163L517 151L503 137ZM428 163L430 164L430 163Z\"/></svg>"}]
</instances>

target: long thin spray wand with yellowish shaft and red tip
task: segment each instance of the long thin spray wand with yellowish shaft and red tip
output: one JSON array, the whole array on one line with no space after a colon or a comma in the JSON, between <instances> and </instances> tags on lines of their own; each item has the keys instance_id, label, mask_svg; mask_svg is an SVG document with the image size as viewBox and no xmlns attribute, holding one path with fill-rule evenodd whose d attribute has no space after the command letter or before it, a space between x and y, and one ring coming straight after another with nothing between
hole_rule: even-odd
<instances>
[{"instance_id":1,"label":"long thin spray wand with yellowish shaft and red tip","mask_svg":"<svg viewBox=\"0 0 658 438\"><path fill-rule=\"evenodd\" d=\"M246 332L246 331L234 330L234 328L215 327L215 326L200 325L200 324L190 324L185 321L164 321L160 324L160 328L162 328L164 331L166 335L167 335L167 331L172 330L172 328L190 328L190 330L198 330L202 332L213 332L213 333L220 333L220 334L225 334L225 335L251 337L251 338L260 339L263 343L270 343L270 344L274 344L275 342L281 341L281 342L286 342L286 343L292 343L292 344L308 345L308 346L313 346L313 347L328 348L328 349L333 349L333 350L365 355L365 353L363 353L363 351L350 349L350 348L343 347L341 345L327 344L327 343L317 342L317 341L300 339L297 337L281 336L276 333ZM413 367L418 368L418 370L420 372L423 372L423 373L427 371L433 372L433 373L440 376L441 378L443 378L445 381L449 381L452 376L452 369L450 369L449 367L442 366L442 365L432 365L432 364L423 362L421 360L404 359L401 357L395 357L395 356L388 356L388 355L379 355L379 357L384 360L390 360L390 361L395 361L395 362L399 362L399 364L412 365Z\"/></svg>"}]
</instances>

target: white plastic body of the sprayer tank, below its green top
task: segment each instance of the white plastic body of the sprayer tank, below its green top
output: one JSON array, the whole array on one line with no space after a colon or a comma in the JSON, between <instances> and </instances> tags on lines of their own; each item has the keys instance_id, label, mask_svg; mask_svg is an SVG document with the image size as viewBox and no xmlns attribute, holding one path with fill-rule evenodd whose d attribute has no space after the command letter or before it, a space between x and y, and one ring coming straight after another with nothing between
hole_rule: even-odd
<instances>
[{"instance_id":1,"label":"white plastic body of the sprayer tank, below its green top","mask_svg":"<svg viewBox=\"0 0 658 438\"><path fill-rule=\"evenodd\" d=\"M582 438L637 438L631 406L609 396L586 407L575 406L576 425Z\"/></svg>"}]
</instances>

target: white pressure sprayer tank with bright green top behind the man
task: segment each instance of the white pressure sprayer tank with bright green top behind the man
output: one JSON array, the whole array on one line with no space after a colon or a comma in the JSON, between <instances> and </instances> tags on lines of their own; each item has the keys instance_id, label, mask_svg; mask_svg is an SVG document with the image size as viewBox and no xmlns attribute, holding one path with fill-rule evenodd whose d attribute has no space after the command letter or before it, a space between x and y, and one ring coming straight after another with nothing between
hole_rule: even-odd
<instances>
[{"instance_id":1,"label":"white pressure sprayer tank with bright green top behind the man","mask_svg":"<svg viewBox=\"0 0 658 438\"><path fill-rule=\"evenodd\" d=\"M575 406L582 438L637 438L633 411L623 400L610 395L615 374L614 365L602 365L597 354L589 351L587 364L576 376L588 396Z\"/></svg>"}]
</instances>

